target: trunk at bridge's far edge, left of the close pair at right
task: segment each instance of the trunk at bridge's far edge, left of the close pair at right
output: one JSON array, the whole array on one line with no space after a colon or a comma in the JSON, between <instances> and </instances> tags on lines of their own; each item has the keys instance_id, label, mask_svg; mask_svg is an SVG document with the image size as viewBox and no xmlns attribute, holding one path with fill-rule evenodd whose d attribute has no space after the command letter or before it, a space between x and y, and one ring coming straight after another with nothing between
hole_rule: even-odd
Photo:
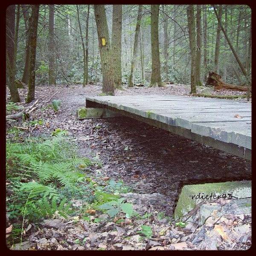
<instances>
[{"instance_id":1,"label":"trunk at bridge's far edge, left of the close pair at right","mask_svg":"<svg viewBox=\"0 0 256 256\"><path fill-rule=\"evenodd\" d=\"M194 6L193 5L187 6L186 11L187 11L187 17L188 17L189 46L190 46L190 52L191 52L191 75L190 75L191 92L190 93L196 93L196 86L195 86L196 42L195 42Z\"/></svg>"}]
</instances>

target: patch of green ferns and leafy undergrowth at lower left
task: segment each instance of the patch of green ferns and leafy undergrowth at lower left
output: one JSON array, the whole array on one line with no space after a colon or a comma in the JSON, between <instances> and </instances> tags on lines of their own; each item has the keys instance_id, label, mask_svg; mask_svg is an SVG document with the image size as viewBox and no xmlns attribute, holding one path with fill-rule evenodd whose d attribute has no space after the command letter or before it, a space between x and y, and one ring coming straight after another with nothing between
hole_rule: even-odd
<instances>
[{"instance_id":1,"label":"patch of green ferns and leafy undergrowth at lower left","mask_svg":"<svg viewBox=\"0 0 256 256\"><path fill-rule=\"evenodd\" d=\"M9 244L22 241L25 223L40 223L44 218L89 218L92 211L109 217L136 215L119 196L129 192L122 180L94 177L90 169L101 167L99 160L78 157L76 151L62 132L49 138L6 141L6 210L14 227ZM77 199L84 202L82 207L72 204Z\"/></svg>"}]
</instances>

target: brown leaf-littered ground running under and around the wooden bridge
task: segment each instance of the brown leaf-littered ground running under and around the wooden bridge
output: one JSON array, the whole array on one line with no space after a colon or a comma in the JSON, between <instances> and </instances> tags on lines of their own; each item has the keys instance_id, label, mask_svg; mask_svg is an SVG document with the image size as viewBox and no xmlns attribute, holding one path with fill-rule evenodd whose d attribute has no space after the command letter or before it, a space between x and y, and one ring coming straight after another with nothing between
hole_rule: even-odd
<instances>
[{"instance_id":1,"label":"brown leaf-littered ground running under and around the wooden bridge","mask_svg":"<svg viewBox=\"0 0 256 256\"><path fill-rule=\"evenodd\" d=\"M24 102L27 89L19 89ZM79 155L97 156L101 168L92 168L92 175L123 180L134 193L125 197L141 214L151 217L116 225L114 221L101 223L61 219L45 220L41 229L29 233L23 249L35 250L245 250L250 247L250 215L212 216L212 223L190 223L175 227L172 219L175 202L183 184L213 181L243 180L251 177L250 161L188 140L159 128L127 117L110 119L77 119L76 111L85 105L85 96L102 92L98 85L36 86L35 98L40 108L32 119L43 119L43 125L29 128L31 136L50 135L56 128L66 130L79 146ZM56 93L56 94L55 94ZM55 95L54 95L55 94ZM170 85L163 88L116 90L115 95L189 95L189 87ZM230 90L219 95L244 94ZM54 96L53 96L54 95ZM7 95L8 96L8 95ZM53 96L53 97L52 97ZM57 113L47 108L52 99L61 100ZM50 99L50 100L49 100ZM25 105L20 103L20 105ZM142 195L147 194L147 195ZM161 198L161 200L159 200ZM79 198L77 200L79 204ZM223 204L223 201L220 202ZM224 202L225 204L225 202ZM163 217L159 214L163 212ZM195 214L196 215L196 214ZM104 216L101 216L104 218ZM92 216L93 218L101 218ZM171 220L171 222L169 221ZM153 230L152 238L141 239L140 225ZM223 239L213 227L220 225L229 237ZM242 227L237 237L233 230ZM236 233L237 234L237 233ZM61 237L61 243L59 242ZM77 242L85 239L87 242ZM82 240L82 241L85 241ZM210 242L209 242L210 241Z\"/></svg>"}]
</instances>

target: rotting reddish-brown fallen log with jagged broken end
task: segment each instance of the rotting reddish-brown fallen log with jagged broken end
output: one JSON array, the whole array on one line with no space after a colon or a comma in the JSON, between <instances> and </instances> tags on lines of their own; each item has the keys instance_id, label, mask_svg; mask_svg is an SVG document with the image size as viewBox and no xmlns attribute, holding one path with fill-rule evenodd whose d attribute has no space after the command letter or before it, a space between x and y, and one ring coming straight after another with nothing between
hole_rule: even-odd
<instances>
[{"instance_id":1,"label":"rotting reddish-brown fallen log with jagged broken end","mask_svg":"<svg viewBox=\"0 0 256 256\"><path fill-rule=\"evenodd\" d=\"M205 86L214 87L214 90L227 89L238 90L246 92L248 89L246 86L236 86L233 84L227 84L222 81L221 76L215 72L209 72Z\"/></svg>"}]
</instances>

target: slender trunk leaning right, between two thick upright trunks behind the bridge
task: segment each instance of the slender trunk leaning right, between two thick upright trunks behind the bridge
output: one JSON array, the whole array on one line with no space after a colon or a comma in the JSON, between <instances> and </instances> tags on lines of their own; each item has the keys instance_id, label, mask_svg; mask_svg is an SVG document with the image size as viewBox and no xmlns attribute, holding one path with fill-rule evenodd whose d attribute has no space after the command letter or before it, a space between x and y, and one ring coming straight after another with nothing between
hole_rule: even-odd
<instances>
[{"instance_id":1,"label":"slender trunk leaning right, between two thick upright trunks behind the bridge","mask_svg":"<svg viewBox=\"0 0 256 256\"><path fill-rule=\"evenodd\" d=\"M131 73L129 77L128 87L134 87L134 68L135 68L137 52L138 52L141 17L142 17L142 5L139 5L137 23L136 23L136 29L135 29L135 35L134 35L134 49L133 49L133 55L131 60Z\"/></svg>"}]
</instances>

